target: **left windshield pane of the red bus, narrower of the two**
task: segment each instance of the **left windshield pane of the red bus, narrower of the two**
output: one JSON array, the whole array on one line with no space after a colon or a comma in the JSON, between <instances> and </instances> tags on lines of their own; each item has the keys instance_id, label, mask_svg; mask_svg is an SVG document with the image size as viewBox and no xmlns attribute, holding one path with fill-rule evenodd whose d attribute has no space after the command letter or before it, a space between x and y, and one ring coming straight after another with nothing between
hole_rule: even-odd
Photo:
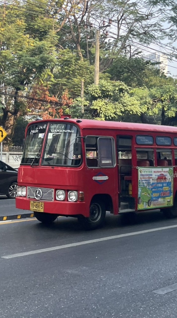
<instances>
[{"instance_id":1,"label":"left windshield pane of the red bus, narrower of the two","mask_svg":"<svg viewBox=\"0 0 177 318\"><path fill-rule=\"evenodd\" d=\"M25 149L22 156L22 164L38 164L39 156L43 138L46 132L46 124L33 124L28 128L26 141L25 141Z\"/></svg>"}]
</instances>

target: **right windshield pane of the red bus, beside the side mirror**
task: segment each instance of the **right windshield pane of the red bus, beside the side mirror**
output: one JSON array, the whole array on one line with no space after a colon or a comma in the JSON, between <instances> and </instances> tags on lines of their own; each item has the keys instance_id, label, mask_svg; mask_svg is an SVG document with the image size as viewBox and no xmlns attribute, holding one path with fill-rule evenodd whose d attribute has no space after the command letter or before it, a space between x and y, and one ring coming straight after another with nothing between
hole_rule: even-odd
<instances>
[{"instance_id":1,"label":"right windshield pane of the red bus, beside the side mirror","mask_svg":"<svg viewBox=\"0 0 177 318\"><path fill-rule=\"evenodd\" d=\"M70 123L51 123L47 135L43 165L78 166L81 155L73 154L79 131Z\"/></svg>"}]
</instances>

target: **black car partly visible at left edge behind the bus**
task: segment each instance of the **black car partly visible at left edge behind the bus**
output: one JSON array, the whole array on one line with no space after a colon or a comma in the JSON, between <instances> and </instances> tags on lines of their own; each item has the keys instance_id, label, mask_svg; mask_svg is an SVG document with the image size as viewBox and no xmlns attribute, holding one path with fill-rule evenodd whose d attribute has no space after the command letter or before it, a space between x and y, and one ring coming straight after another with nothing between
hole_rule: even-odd
<instances>
[{"instance_id":1,"label":"black car partly visible at left edge behind the bus","mask_svg":"<svg viewBox=\"0 0 177 318\"><path fill-rule=\"evenodd\" d=\"M0 160L0 195L13 199L17 196L18 171Z\"/></svg>"}]
</instances>

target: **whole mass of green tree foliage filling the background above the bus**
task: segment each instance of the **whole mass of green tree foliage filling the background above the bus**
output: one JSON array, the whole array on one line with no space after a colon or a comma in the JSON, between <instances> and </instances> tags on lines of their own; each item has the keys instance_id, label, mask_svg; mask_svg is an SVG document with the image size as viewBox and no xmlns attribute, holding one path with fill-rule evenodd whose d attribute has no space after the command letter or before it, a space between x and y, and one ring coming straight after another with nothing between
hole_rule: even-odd
<instances>
[{"instance_id":1,"label":"whole mass of green tree foliage filling the background above the bus","mask_svg":"<svg viewBox=\"0 0 177 318\"><path fill-rule=\"evenodd\" d=\"M88 1L87 12L81 12L83 8L82 0L75 0L70 11L66 0L10 0L1 5L0 125L10 135L19 116L28 112L32 116L38 114L39 108L42 111L49 107L42 93L46 91L48 99L55 100L50 105L54 110L62 106L73 117L143 122L151 119L176 125L177 80L140 58L140 50L132 47L134 43L169 38L173 50L175 1L93 0ZM105 41L101 31L98 86L93 84L95 43L86 41L88 31L83 28L90 16L94 22L95 13L96 20L99 16L100 21L102 17L113 20L111 40ZM168 28L165 21L170 22ZM94 36L95 31L90 31L90 37ZM176 57L173 51L171 55ZM36 89L37 100L32 107L29 96L38 85L44 90ZM64 103L65 93L74 100L72 105ZM60 105L56 106L57 99Z\"/></svg>"}]
</instances>

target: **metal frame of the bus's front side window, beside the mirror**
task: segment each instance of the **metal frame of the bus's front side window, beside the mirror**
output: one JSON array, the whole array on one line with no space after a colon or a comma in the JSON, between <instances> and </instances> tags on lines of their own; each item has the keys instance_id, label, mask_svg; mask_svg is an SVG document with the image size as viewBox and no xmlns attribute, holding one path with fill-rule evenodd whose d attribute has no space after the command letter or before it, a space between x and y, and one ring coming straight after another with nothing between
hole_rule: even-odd
<instances>
[{"instance_id":1,"label":"metal frame of the bus's front side window, beside the mirror","mask_svg":"<svg viewBox=\"0 0 177 318\"><path fill-rule=\"evenodd\" d=\"M88 165L87 165L87 157L86 157L86 138L87 137L96 137L97 138L97 140L96 140L96 142L97 142L97 149L98 149L98 139L99 138L102 138L102 139L106 139L106 138L109 138L109 139L111 139L111 141L112 141L112 158L113 158L113 161L114 161L114 165L113 166L100 166L100 156L99 156L99 149L98 149L98 164L99 164L99 166L98 167L89 167ZM89 169L104 169L104 168L106 168L106 169L112 169L112 168L115 168L116 167L116 164L117 164L117 162L116 162L116 147L115 147L115 139L114 139L114 137L112 137L112 136L96 136L96 135L86 135L86 136L84 136L84 138L85 138L85 162L86 162L86 166L87 166L87 168L89 168Z\"/></svg>"}]
</instances>

